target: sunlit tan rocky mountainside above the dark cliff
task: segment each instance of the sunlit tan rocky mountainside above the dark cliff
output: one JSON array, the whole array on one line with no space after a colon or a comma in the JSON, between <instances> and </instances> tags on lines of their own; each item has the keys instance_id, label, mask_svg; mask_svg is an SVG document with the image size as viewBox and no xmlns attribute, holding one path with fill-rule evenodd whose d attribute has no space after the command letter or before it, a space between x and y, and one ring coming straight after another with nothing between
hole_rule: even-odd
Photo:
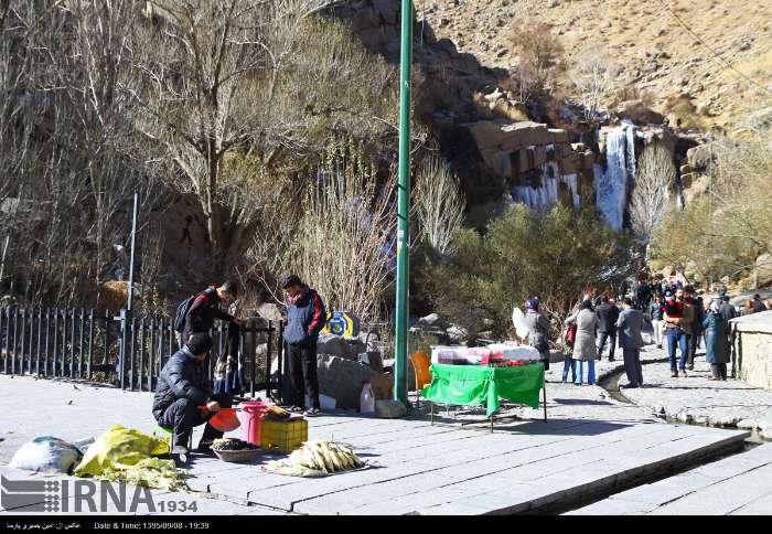
<instances>
[{"instance_id":1,"label":"sunlit tan rocky mountainside above the dark cliff","mask_svg":"<svg viewBox=\"0 0 772 534\"><path fill-rule=\"evenodd\" d=\"M772 2L764 0L426 0L416 4L438 39L451 40L493 68L517 63L510 35L516 21L544 22L571 67L601 56L619 89L650 92L667 115L667 99L685 96L704 127L739 134L772 106ZM607 103L608 104L608 103Z\"/></svg>"}]
</instances>

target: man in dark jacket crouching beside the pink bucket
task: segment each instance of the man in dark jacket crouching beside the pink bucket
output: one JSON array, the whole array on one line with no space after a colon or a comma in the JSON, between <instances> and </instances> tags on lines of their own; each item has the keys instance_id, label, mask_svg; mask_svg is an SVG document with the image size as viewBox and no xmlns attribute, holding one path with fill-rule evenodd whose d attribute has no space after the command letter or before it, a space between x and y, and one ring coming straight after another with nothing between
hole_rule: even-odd
<instances>
[{"instance_id":1,"label":"man in dark jacket crouching beside the pink bucket","mask_svg":"<svg viewBox=\"0 0 772 534\"><path fill-rule=\"evenodd\" d=\"M182 350L169 359L158 377L153 416L159 426L172 430L172 457L178 463L187 462L187 442L193 427L207 423L219 408L229 408L233 403L228 394L212 395L205 364L211 349L208 334L191 335ZM202 410L201 406L208 410ZM221 437L223 432L207 423L196 451L208 453L214 439Z\"/></svg>"}]
</instances>

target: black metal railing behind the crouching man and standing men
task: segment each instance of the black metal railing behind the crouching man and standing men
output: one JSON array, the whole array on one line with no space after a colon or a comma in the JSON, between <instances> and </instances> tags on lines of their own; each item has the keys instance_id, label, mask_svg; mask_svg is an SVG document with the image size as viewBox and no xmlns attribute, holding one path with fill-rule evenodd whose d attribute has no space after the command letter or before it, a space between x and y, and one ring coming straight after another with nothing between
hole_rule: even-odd
<instances>
[{"instance_id":1,"label":"black metal railing behind the crouching man and standing men","mask_svg":"<svg viewBox=\"0 0 772 534\"><path fill-rule=\"evenodd\" d=\"M224 323L212 329L210 378L217 355L226 349ZM254 397L274 389L281 395L281 380L271 383L271 360L282 372L283 327L262 319L242 324L240 372ZM156 391L158 375L179 349L172 319L133 316L120 310L118 317L93 309L0 308L0 362L2 372L14 375L76 378L100 382L130 391Z\"/></svg>"}]
</instances>

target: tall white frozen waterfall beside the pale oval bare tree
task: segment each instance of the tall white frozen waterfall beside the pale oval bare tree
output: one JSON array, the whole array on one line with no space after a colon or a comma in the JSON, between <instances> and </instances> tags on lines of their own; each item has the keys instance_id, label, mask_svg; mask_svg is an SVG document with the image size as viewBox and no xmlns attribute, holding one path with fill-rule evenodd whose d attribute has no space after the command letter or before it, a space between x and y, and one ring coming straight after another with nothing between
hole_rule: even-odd
<instances>
[{"instance_id":1,"label":"tall white frozen waterfall beside the pale oval bare tree","mask_svg":"<svg viewBox=\"0 0 772 534\"><path fill-rule=\"evenodd\" d=\"M621 229L628 188L635 180L635 128L624 125L605 137L605 170L593 167L598 209L609 226Z\"/></svg>"}]
</instances>

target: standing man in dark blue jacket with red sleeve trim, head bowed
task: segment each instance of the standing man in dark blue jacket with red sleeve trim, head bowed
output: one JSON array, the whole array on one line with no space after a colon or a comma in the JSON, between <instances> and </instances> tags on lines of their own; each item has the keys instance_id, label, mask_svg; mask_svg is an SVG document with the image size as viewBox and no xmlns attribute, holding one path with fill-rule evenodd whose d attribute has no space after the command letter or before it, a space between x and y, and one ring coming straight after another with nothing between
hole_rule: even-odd
<instances>
[{"instance_id":1,"label":"standing man in dark blue jacket with red sleeve trim, head bowed","mask_svg":"<svg viewBox=\"0 0 772 534\"><path fill-rule=\"evenodd\" d=\"M287 295L285 342L293 386L290 410L302 412L304 395L308 394L312 406L305 410L305 416L313 417L320 413L317 339L326 322L326 311L319 293L303 284L298 275L286 277L281 287Z\"/></svg>"}]
</instances>

